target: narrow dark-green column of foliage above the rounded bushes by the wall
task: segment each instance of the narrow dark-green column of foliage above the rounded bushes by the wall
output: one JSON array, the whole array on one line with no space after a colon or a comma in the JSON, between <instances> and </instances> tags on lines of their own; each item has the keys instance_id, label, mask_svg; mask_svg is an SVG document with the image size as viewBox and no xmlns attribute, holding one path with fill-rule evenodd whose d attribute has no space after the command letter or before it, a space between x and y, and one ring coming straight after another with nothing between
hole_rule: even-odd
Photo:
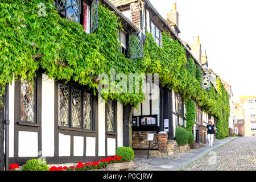
<instances>
[{"instance_id":1,"label":"narrow dark-green column of foliage above the rounded bushes by the wall","mask_svg":"<svg viewBox=\"0 0 256 182\"><path fill-rule=\"evenodd\" d=\"M185 101L185 107L187 111L185 114L185 117L187 118L186 130L192 131L196 121L196 103L195 101L189 99Z\"/></svg>"}]
</instances>

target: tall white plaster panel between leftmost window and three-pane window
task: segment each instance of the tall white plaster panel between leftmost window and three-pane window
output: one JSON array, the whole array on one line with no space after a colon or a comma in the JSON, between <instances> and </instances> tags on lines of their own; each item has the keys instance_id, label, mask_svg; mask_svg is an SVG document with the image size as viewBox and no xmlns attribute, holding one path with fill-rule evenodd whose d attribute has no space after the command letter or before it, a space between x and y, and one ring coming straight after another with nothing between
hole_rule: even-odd
<instances>
[{"instance_id":1,"label":"tall white plaster panel between leftmost window and three-pane window","mask_svg":"<svg viewBox=\"0 0 256 182\"><path fill-rule=\"evenodd\" d=\"M42 76L42 155L54 156L54 80Z\"/></svg>"}]
</instances>

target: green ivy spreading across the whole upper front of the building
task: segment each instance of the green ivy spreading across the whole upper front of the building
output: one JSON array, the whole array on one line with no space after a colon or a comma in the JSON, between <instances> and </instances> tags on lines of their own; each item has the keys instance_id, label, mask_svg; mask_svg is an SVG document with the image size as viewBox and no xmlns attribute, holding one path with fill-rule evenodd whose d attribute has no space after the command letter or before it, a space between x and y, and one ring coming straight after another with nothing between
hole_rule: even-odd
<instances>
[{"instance_id":1,"label":"green ivy spreading across the whole upper front of the building","mask_svg":"<svg viewBox=\"0 0 256 182\"><path fill-rule=\"evenodd\" d=\"M98 10L98 30L86 34L80 24L61 18L53 0L44 1L46 16L38 16L39 0L0 2L0 85L20 77L33 82L36 71L42 67L55 80L74 80L97 91L100 73L115 70L124 73L158 73L159 82L174 89L184 97L187 108L187 129L195 121L195 106L202 106L207 113L218 118L218 138L228 136L229 97L217 80L218 93L213 86L209 92L200 86L203 72L185 56L184 47L170 35L162 34L163 48L154 42L151 34L143 46L144 57L131 60L123 56L118 43L118 17L104 6ZM118 81L114 82L118 85ZM117 100L124 105L138 106L144 100L143 93L105 93L102 98ZM189 109L191 108L191 109Z\"/></svg>"}]
</instances>

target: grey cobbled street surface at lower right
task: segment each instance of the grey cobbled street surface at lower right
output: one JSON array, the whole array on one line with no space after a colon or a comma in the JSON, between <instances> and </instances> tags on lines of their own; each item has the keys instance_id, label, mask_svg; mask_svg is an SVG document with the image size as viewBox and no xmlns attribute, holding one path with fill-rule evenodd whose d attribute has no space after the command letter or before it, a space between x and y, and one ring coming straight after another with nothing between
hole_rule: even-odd
<instances>
[{"instance_id":1,"label":"grey cobbled street surface at lower right","mask_svg":"<svg viewBox=\"0 0 256 182\"><path fill-rule=\"evenodd\" d=\"M256 170L256 137L236 138L215 148L187 166L183 171Z\"/></svg>"}]
</instances>

